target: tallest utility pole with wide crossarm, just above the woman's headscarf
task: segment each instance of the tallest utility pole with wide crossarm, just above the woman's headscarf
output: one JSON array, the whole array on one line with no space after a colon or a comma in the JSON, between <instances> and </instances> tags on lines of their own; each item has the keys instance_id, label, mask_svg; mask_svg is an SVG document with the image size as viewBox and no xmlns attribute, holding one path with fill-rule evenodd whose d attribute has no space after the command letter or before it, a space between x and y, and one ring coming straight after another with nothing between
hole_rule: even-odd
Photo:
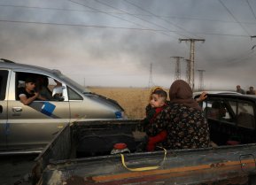
<instances>
[{"instance_id":1,"label":"tallest utility pole with wide crossarm, just above the woman's headscarf","mask_svg":"<svg viewBox=\"0 0 256 185\"><path fill-rule=\"evenodd\" d=\"M179 39L180 42L190 42L190 75L189 84L192 90L195 86L195 42L205 42L205 39Z\"/></svg>"}]
</instances>

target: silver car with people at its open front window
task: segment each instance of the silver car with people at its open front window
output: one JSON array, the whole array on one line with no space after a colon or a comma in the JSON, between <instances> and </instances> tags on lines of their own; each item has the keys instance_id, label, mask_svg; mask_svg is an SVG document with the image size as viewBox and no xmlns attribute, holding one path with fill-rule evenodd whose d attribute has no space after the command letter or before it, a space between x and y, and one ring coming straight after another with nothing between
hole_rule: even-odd
<instances>
[{"instance_id":1,"label":"silver car with people at its open front window","mask_svg":"<svg viewBox=\"0 0 256 185\"><path fill-rule=\"evenodd\" d=\"M22 104L18 91L28 76L43 77L52 98ZM53 97L56 81L62 84L60 98ZM40 152L66 124L97 119L125 119L124 110L58 70L0 60L0 154Z\"/></svg>"}]
</instances>

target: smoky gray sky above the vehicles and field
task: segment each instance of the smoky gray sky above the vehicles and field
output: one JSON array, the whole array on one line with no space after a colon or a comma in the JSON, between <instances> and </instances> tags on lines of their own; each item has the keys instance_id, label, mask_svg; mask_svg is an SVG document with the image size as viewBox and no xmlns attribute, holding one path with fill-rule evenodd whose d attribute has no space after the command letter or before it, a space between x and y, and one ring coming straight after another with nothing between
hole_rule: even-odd
<instances>
[{"instance_id":1,"label":"smoky gray sky above the vehicles and field","mask_svg":"<svg viewBox=\"0 0 256 185\"><path fill-rule=\"evenodd\" d=\"M206 39L195 47L206 89L256 88L255 14L253 0L0 0L0 57L86 86L148 87L152 64L153 84L168 88L170 57L190 58L179 38Z\"/></svg>"}]
</instances>

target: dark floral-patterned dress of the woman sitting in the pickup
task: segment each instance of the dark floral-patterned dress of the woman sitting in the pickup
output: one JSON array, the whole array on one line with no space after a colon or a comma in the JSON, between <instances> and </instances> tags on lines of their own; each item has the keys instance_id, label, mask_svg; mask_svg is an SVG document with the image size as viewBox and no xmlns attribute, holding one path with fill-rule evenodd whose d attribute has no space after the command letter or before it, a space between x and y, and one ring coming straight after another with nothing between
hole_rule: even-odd
<instances>
[{"instance_id":1,"label":"dark floral-patterned dress of the woman sitting in the pickup","mask_svg":"<svg viewBox=\"0 0 256 185\"><path fill-rule=\"evenodd\" d=\"M209 147L210 136L207 120L202 111L182 104L169 104L146 127L147 135L158 135L167 130L166 149L197 149Z\"/></svg>"}]
</instances>

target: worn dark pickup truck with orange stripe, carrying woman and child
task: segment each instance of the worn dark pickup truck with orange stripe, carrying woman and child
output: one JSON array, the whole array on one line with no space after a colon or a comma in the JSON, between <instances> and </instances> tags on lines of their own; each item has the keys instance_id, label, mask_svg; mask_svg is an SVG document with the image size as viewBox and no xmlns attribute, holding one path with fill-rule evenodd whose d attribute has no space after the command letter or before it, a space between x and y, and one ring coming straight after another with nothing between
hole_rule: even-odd
<instances>
[{"instance_id":1,"label":"worn dark pickup truck with orange stripe, carrying woman and child","mask_svg":"<svg viewBox=\"0 0 256 185\"><path fill-rule=\"evenodd\" d=\"M74 122L36 158L34 180L38 185L256 184L256 96L208 95L201 105L213 147L143 152L140 120ZM126 143L130 153L111 155L116 143Z\"/></svg>"}]
</instances>

